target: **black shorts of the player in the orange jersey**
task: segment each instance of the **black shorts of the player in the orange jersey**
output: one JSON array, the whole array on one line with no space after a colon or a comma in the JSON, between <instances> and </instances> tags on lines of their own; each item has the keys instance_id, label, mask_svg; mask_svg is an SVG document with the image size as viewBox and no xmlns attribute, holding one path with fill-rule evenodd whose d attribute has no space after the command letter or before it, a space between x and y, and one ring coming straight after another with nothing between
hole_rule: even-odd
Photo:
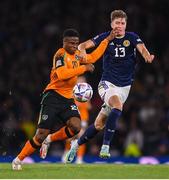
<instances>
[{"instance_id":1,"label":"black shorts of the player in the orange jersey","mask_svg":"<svg viewBox=\"0 0 169 180\"><path fill-rule=\"evenodd\" d=\"M52 130L57 123L66 123L71 117L79 117L74 99L67 99L55 91L43 94L38 128Z\"/></svg>"}]
</instances>

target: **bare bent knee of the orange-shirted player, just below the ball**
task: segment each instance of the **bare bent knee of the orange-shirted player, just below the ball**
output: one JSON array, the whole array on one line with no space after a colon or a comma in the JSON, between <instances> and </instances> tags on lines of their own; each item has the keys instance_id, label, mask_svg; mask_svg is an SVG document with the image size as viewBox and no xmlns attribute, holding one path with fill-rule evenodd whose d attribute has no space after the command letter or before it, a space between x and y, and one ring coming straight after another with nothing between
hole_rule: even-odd
<instances>
[{"instance_id":1,"label":"bare bent knee of the orange-shirted player, just below the ball","mask_svg":"<svg viewBox=\"0 0 169 180\"><path fill-rule=\"evenodd\" d=\"M73 117L68 122L68 127L74 133L74 135L78 134L81 130L81 121L78 117Z\"/></svg>"}]
</instances>

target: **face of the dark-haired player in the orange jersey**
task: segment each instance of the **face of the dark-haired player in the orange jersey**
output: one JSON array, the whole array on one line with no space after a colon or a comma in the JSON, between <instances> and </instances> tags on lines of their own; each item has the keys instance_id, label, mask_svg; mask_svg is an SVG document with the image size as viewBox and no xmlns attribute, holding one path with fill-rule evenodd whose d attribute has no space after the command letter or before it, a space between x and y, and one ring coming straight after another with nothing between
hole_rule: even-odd
<instances>
[{"instance_id":1,"label":"face of the dark-haired player in the orange jersey","mask_svg":"<svg viewBox=\"0 0 169 180\"><path fill-rule=\"evenodd\" d=\"M65 37L63 39L63 48L69 53L74 54L79 45L78 37Z\"/></svg>"}]
</instances>

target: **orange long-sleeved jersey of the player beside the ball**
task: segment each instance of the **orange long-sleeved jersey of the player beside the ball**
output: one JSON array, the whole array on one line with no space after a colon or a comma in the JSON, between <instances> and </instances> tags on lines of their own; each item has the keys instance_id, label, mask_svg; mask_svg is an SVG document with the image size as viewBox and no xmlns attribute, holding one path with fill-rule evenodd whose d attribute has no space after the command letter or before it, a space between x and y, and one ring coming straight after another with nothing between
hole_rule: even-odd
<instances>
[{"instance_id":1,"label":"orange long-sleeved jersey of the player beside the ball","mask_svg":"<svg viewBox=\"0 0 169 180\"><path fill-rule=\"evenodd\" d=\"M73 87L77 82L77 77L86 71L86 66L80 63L96 62L104 53L107 45L108 40L103 40L91 54L87 54L85 61L80 58L80 51L77 50L71 55L64 48L60 48L53 57L50 83L44 91L54 90L68 99L73 98Z\"/></svg>"}]
</instances>

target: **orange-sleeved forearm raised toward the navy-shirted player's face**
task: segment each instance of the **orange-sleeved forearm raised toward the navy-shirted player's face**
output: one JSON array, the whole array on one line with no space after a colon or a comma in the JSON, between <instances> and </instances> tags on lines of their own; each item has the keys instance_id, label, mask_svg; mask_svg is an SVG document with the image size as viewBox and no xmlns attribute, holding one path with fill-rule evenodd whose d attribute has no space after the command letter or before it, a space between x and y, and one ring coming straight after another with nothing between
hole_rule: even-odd
<instances>
[{"instance_id":1,"label":"orange-sleeved forearm raised toward the navy-shirted player's face","mask_svg":"<svg viewBox=\"0 0 169 180\"><path fill-rule=\"evenodd\" d=\"M109 41L104 39L99 46L90 54L87 54L87 62L88 63L95 63L100 57L104 54Z\"/></svg>"}]
</instances>

